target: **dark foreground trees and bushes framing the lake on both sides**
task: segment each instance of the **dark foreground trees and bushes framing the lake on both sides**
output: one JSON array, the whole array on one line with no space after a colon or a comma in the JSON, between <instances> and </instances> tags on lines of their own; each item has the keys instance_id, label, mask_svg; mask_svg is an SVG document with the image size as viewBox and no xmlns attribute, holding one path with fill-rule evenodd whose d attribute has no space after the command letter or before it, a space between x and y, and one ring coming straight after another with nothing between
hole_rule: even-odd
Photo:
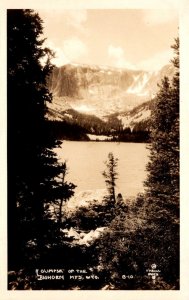
<instances>
[{"instance_id":1,"label":"dark foreground trees and bushes framing the lake on both sides","mask_svg":"<svg viewBox=\"0 0 189 300\"><path fill-rule=\"evenodd\" d=\"M179 289L178 40L175 76L163 79L154 101L145 194L116 195L118 162L109 154L107 197L68 216L63 204L75 185L66 181L66 163L53 152L59 143L45 119L52 52L43 47L38 14L7 14L8 288ZM71 226L104 229L81 245L66 234Z\"/></svg>"}]
</instances>

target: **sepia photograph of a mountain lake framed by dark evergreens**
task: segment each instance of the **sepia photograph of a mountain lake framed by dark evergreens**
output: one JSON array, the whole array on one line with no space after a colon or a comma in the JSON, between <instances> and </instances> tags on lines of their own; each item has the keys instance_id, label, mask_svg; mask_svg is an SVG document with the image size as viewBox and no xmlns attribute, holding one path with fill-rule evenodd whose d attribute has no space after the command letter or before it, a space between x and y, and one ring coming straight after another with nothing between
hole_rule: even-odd
<instances>
[{"instance_id":1,"label":"sepia photograph of a mountain lake framed by dark evergreens","mask_svg":"<svg viewBox=\"0 0 189 300\"><path fill-rule=\"evenodd\" d=\"M179 10L5 18L7 291L179 292Z\"/></svg>"}]
</instances>

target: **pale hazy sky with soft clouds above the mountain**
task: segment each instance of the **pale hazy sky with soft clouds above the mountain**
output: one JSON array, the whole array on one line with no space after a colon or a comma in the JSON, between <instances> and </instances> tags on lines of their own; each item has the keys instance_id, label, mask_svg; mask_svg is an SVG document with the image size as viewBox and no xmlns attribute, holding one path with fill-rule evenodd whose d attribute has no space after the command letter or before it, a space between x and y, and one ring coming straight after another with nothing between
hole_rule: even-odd
<instances>
[{"instance_id":1,"label":"pale hazy sky with soft clouds above the mountain","mask_svg":"<svg viewBox=\"0 0 189 300\"><path fill-rule=\"evenodd\" d=\"M54 63L157 70L173 56L175 10L38 10Z\"/></svg>"}]
</instances>

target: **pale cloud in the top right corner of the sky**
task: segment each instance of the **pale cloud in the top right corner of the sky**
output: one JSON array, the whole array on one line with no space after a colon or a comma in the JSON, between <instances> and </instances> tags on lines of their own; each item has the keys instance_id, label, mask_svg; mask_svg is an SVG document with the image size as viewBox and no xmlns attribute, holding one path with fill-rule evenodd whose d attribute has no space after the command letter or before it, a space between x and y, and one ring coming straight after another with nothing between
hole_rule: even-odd
<instances>
[{"instance_id":1,"label":"pale cloud in the top right corner of the sky","mask_svg":"<svg viewBox=\"0 0 189 300\"><path fill-rule=\"evenodd\" d=\"M144 22L147 25L166 24L178 18L178 11L173 9L149 9L143 14Z\"/></svg>"}]
</instances>

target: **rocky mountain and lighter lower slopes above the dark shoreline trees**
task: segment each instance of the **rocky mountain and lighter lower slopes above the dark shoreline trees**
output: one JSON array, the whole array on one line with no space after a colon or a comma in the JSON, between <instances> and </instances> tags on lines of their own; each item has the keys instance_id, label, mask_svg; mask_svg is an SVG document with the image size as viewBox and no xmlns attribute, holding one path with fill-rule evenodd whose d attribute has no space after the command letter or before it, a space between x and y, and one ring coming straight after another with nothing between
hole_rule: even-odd
<instances>
[{"instance_id":1,"label":"rocky mountain and lighter lower slopes above the dark shoreline trees","mask_svg":"<svg viewBox=\"0 0 189 300\"><path fill-rule=\"evenodd\" d=\"M172 65L154 72L79 64L55 67L48 79L53 95L48 119L71 123L79 119L82 123L81 119L87 118L109 124L116 119L116 126L121 124L122 129L132 130L149 120L158 83L173 74Z\"/></svg>"}]
</instances>

